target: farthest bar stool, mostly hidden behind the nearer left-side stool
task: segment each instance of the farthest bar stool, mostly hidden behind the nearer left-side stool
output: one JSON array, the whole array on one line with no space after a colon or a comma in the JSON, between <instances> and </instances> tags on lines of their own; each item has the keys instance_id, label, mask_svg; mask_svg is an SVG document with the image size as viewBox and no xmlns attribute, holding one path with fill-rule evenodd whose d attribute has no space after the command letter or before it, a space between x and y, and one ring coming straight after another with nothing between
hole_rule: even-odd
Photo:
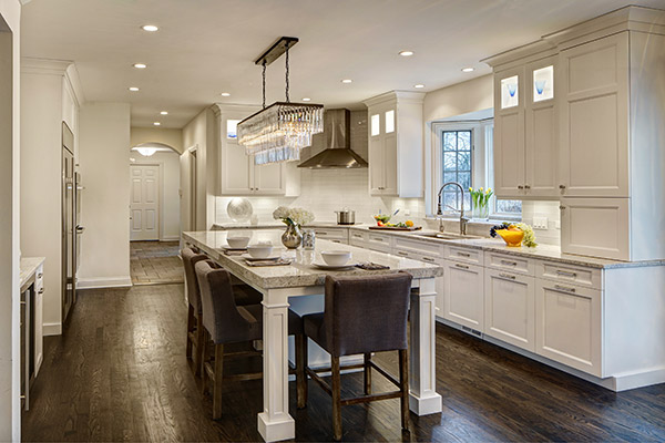
<instances>
[{"instance_id":1,"label":"farthest bar stool, mostly hidden behind the nearer left-side stool","mask_svg":"<svg viewBox=\"0 0 665 443\"><path fill-rule=\"evenodd\" d=\"M198 290L198 281L196 279L196 272L194 266L201 261L207 259L205 254L201 254L193 248L183 248L181 250L181 257L183 258L183 267L185 268L185 285L187 286L187 344L185 354L187 359L193 360L194 374L201 375L201 368L203 362L203 326L201 323L201 293ZM234 290L236 303L239 306L260 303L263 296L257 290L244 285L236 286Z\"/></svg>"}]
</instances>

